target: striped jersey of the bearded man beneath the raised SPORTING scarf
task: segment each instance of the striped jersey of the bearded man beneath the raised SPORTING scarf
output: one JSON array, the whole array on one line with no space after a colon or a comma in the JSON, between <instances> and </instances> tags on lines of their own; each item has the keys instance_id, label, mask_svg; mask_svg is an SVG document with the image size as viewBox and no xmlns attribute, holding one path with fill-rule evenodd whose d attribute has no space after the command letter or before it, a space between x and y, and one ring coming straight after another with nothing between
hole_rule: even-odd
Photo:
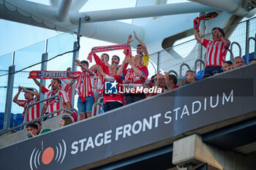
<instances>
[{"instance_id":1,"label":"striped jersey of the bearded man beneath the raised SPORTING scarf","mask_svg":"<svg viewBox=\"0 0 256 170\"><path fill-rule=\"evenodd\" d=\"M65 106L65 103L67 103L69 101L68 97L67 97L67 93L63 90L58 90L57 93L53 93L53 91L48 91L45 93L45 98L50 98L51 96L55 96L59 94L62 98L62 108L64 108ZM56 97L54 99L50 99L48 101L45 101L44 104L47 104L48 105L48 108L46 110L46 112L50 113L50 112L54 112L58 109L61 108L61 103L60 103L60 98L59 97ZM52 117L52 116L58 116L59 115L59 112L53 114L53 115L50 115L49 117Z\"/></svg>"}]
</instances>

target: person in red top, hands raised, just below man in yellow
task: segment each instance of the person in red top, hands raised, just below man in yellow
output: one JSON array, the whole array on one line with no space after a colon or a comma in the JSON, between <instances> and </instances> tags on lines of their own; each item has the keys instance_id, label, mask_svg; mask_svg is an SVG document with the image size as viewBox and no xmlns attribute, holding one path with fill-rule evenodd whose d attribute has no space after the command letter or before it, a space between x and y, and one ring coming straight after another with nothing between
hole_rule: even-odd
<instances>
[{"instance_id":1,"label":"person in red top, hands raised, just below man in yellow","mask_svg":"<svg viewBox=\"0 0 256 170\"><path fill-rule=\"evenodd\" d=\"M129 63L132 68L124 70L124 66ZM123 73L124 72L124 73ZM128 89L140 88L145 84L146 78L148 77L148 68L144 66L143 58L141 55L135 55L134 60L127 55L118 69L117 75L124 77L124 84ZM135 101L139 101L146 98L144 93L124 93L125 104L130 104Z\"/></svg>"}]
</instances>

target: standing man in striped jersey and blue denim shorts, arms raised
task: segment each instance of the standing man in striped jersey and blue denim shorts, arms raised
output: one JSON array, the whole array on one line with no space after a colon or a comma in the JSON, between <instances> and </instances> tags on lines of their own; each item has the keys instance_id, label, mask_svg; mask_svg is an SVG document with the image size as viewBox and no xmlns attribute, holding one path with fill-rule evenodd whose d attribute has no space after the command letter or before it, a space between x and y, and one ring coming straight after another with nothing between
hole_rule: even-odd
<instances>
[{"instance_id":1,"label":"standing man in striped jersey and blue denim shorts, arms raised","mask_svg":"<svg viewBox=\"0 0 256 170\"><path fill-rule=\"evenodd\" d=\"M67 68L67 77L77 79L75 88L78 90L78 112L80 120L91 117L91 109L94 104L94 72L89 69L88 61L77 61L82 72L78 76L70 74L71 68Z\"/></svg>"}]
</instances>

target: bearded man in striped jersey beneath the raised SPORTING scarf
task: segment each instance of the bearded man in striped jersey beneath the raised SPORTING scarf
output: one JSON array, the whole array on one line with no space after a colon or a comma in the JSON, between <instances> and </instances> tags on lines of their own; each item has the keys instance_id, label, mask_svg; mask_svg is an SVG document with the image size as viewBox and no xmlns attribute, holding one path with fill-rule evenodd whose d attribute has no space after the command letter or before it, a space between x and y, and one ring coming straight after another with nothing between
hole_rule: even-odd
<instances>
[{"instance_id":1,"label":"bearded man in striped jersey beneath the raised SPORTING scarf","mask_svg":"<svg viewBox=\"0 0 256 170\"><path fill-rule=\"evenodd\" d=\"M61 85L61 80L53 79L53 82L51 85L52 90L45 93L45 98L50 98L51 96L55 96L55 95L59 94L62 98L62 103L61 103L59 97L56 97L56 98L46 101L44 103L45 104L44 107L42 107L41 115L44 115L45 112L48 112L48 113L54 112L54 111L60 109L61 105L62 105L62 108L70 110L70 103L69 103L69 99L67 97L67 93L63 90L59 90L60 85ZM54 117L54 116L58 116L58 115L59 115L59 112L57 112L53 115L50 115L49 117Z\"/></svg>"}]
</instances>

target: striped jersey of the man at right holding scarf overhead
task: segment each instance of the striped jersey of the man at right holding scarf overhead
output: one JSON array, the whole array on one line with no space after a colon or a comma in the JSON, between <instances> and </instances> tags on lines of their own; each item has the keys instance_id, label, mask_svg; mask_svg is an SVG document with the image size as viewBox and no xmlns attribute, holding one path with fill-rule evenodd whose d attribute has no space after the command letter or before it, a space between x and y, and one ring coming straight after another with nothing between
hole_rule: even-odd
<instances>
[{"instance_id":1,"label":"striped jersey of the man at right holding scarf overhead","mask_svg":"<svg viewBox=\"0 0 256 170\"><path fill-rule=\"evenodd\" d=\"M206 67L208 66L222 66L225 61L228 47L225 47L222 40L209 41L208 39L202 39L201 44L206 47Z\"/></svg>"}]
</instances>

